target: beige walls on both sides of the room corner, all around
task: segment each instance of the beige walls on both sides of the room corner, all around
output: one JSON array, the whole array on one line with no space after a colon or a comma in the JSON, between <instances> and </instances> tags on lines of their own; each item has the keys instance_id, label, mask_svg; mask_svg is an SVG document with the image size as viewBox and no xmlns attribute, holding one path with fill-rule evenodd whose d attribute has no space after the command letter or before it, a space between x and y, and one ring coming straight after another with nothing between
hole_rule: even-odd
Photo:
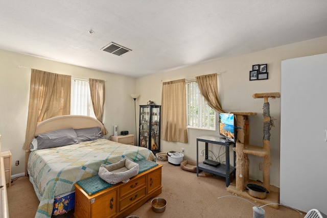
<instances>
[{"instance_id":1,"label":"beige walls on both sides of the room corner, all around","mask_svg":"<svg viewBox=\"0 0 327 218\"><path fill-rule=\"evenodd\" d=\"M21 149L25 140L31 70L18 65L57 74L106 81L104 124L113 133L113 125L119 131L134 133L134 101L131 93L140 94L136 105L149 100L161 104L161 84L181 78L221 72L218 76L219 94L225 111L250 111L258 115L250 117L250 143L262 145L263 117L262 99L253 99L253 93L281 91L281 61L284 59L327 53L327 37L321 37L247 55L215 60L194 66L162 72L139 79L91 70L51 60L0 50L0 134L2 150L12 153L12 174L24 173L25 152ZM249 81L249 70L253 64L268 64L269 79ZM314 72L310 72L314 74ZM300 76L300 75L299 75ZM296 78L294 78L296 79ZM306 87L303 87L306 88ZM281 93L283 96L283 93ZM138 112L138 106L136 106ZM279 139L281 126L281 100L270 100L270 114L275 118L271 129L271 184L279 186ZM137 115L138 119L138 115ZM138 120L137 120L138 122ZM185 149L185 158L196 160L196 138L201 135L217 135L217 131L189 129L189 143L161 141L161 151ZM204 146L203 146L204 147ZM218 147L210 149L218 155ZM20 164L15 166L15 161ZM259 171L260 158L250 157L250 177L262 180Z\"/></svg>"}]
</instances>

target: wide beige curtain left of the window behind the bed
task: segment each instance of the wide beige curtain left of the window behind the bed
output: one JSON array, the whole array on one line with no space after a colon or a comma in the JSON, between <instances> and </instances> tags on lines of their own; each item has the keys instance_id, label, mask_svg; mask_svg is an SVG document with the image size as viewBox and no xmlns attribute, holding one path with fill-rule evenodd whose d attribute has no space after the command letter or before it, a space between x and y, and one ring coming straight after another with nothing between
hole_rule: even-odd
<instances>
[{"instance_id":1,"label":"wide beige curtain left of the window behind the bed","mask_svg":"<svg viewBox=\"0 0 327 218\"><path fill-rule=\"evenodd\" d=\"M71 112L71 76L32 69L30 102L23 149L30 150L36 125Z\"/></svg>"}]
</instances>

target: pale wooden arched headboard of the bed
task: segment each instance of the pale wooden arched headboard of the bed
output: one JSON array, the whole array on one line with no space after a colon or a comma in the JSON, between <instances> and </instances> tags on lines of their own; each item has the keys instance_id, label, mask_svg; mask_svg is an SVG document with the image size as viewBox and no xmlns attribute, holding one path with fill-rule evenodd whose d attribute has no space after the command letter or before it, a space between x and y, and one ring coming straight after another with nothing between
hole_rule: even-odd
<instances>
[{"instance_id":1,"label":"pale wooden arched headboard of the bed","mask_svg":"<svg viewBox=\"0 0 327 218\"><path fill-rule=\"evenodd\" d=\"M34 135L38 135L40 133L50 132L59 129L82 129L82 128L90 128L90 127L100 127L102 133L104 133L104 126L98 120L90 116L83 115L63 115L56 116L49 119L46 119L40 122L36 126L36 130ZM27 163L29 160L30 151L25 153L25 176L28 176L27 173Z\"/></svg>"}]
</instances>

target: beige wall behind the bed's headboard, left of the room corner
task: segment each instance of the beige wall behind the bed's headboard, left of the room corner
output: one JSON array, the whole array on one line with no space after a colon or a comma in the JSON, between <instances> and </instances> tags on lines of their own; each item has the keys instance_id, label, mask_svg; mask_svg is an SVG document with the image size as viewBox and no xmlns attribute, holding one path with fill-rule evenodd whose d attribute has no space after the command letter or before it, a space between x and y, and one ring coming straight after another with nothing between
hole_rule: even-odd
<instances>
[{"instance_id":1,"label":"beige wall behind the bed's headboard, left of the room corner","mask_svg":"<svg viewBox=\"0 0 327 218\"><path fill-rule=\"evenodd\" d=\"M12 153L12 175L24 173L25 168L25 151L21 148L25 141L31 77L31 69L19 65L105 80L104 125L109 132L106 137L113 134L113 125L119 125L119 131L134 133L134 100L130 96L135 92L134 78L0 50L0 134L2 151Z\"/></svg>"}]
</instances>

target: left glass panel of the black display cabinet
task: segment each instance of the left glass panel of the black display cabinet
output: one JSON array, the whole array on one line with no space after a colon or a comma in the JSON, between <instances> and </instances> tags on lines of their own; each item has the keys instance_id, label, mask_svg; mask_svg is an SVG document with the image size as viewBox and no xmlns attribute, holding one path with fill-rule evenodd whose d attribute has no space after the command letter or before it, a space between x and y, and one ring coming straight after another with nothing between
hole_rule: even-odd
<instances>
[{"instance_id":1,"label":"left glass panel of the black display cabinet","mask_svg":"<svg viewBox=\"0 0 327 218\"><path fill-rule=\"evenodd\" d=\"M139 110L139 146L149 148L150 107L140 107Z\"/></svg>"}]
</instances>

